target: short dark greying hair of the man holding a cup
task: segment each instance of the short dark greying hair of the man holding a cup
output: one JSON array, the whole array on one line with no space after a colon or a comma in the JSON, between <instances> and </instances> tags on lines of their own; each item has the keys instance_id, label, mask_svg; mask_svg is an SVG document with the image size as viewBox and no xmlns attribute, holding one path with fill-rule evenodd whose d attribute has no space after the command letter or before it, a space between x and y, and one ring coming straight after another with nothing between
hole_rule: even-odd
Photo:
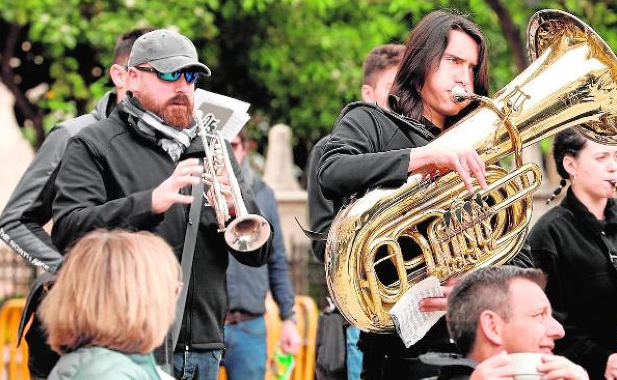
<instances>
[{"instance_id":1,"label":"short dark greying hair of the man holding a cup","mask_svg":"<svg viewBox=\"0 0 617 380\"><path fill-rule=\"evenodd\" d=\"M447 322L450 338L457 342L463 355L473 349L480 314L492 310L504 320L510 318L508 291L515 278L546 286L546 277L539 269L522 269L511 265L486 267L468 273L448 297Z\"/></svg>"}]
</instances>

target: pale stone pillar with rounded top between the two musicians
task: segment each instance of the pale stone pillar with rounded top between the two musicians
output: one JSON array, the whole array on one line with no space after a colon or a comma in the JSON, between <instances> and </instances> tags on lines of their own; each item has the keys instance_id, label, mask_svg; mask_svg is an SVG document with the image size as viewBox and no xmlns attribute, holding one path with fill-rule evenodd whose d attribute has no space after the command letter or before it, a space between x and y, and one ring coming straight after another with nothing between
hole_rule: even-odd
<instances>
[{"instance_id":1,"label":"pale stone pillar with rounded top between the two musicians","mask_svg":"<svg viewBox=\"0 0 617 380\"><path fill-rule=\"evenodd\" d=\"M291 128L277 124L268 132L268 150L263 180L273 188L276 201L278 201L278 212L281 216L285 250L288 256L291 255L294 245L310 244L295 219L297 217L304 227L309 225L307 192L300 188L294 175L293 164Z\"/></svg>"}]
</instances>

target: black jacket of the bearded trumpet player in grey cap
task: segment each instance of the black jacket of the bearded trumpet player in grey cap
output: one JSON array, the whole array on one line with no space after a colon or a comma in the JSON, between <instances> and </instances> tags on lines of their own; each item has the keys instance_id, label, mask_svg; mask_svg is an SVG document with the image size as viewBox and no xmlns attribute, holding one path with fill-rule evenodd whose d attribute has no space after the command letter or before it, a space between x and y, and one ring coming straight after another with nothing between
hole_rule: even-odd
<instances>
[{"instance_id":1,"label":"black jacket of the bearded trumpet player in grey cap","mask_svg":"<svg viewBox=\"0 0 617 380\"><path fill-rule=\"evenodd\" d=\"M172 174L176 164L153 137L140 132L128 119L116 108L109 118L69 140L56 179L52 239L58 248L65 249L96 228L149 230L164 238L180 260L189 205L175 204L160 215L151 211L152 190ZM180 160L203 156L197 137ZM248 211L259 213L238 163L233 156L230 159ZM252 266L265 264L270 253L271 239L252 253L231 251L217 230L212 208L204 208L192 276L184 279L189 288L176 350L223 348L227 252Z\"/></svg>"}]
</instances>

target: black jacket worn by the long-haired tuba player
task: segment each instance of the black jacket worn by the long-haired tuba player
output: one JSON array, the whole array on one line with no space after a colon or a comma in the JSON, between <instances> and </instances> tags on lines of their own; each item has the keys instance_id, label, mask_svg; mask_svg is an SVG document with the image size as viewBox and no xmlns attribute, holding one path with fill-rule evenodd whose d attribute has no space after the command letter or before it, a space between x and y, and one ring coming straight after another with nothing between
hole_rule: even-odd
<instances>
[{"instance_id":1,"label":"black jacket worn by the long-haired tuba player","mask_svg":"<svg viewBox=\"0 0 617 380\"><path fill-rule=\"evenodd\" d=\"M317 174L321 190L326 198L334 201L336 212L346 198L356 193L362 196L373 188L400 187L407 181L410 151L428 144L439 132L426 119L420 123L375 103L351 103L341 111L324 148ZM532 267L528 246L508 264ZM377 378L387 378L387 371L395 371L397 366L392 360L417 361L418 355L428 351L456 351L445 318L409 349L396 334L362 333L358 346L365 354L365 366L386 371L376 375ZM392 372L392 376L398 375Z\"/></svg>"}]
</instances>

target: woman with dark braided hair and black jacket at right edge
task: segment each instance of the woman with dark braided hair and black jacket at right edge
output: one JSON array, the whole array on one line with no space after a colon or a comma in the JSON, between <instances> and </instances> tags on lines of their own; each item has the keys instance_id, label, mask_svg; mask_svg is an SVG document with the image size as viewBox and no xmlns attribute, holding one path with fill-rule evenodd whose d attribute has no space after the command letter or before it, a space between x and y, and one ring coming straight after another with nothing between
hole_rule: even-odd
<instances>
[{"instance_id":1,"label":"woman with dark braided hair and black jacket at right edge","mask_svg":"<svg viewBox=\"0 0 617 380\"><path fill-rule=\"evenodd\" d=\"M590 379L617 379L617 147L574 129L555 136L553 156L565 198L536 222L531 254L548 277L547 296L566 336L555 353Z\"/></svg>"}]
</instances>

